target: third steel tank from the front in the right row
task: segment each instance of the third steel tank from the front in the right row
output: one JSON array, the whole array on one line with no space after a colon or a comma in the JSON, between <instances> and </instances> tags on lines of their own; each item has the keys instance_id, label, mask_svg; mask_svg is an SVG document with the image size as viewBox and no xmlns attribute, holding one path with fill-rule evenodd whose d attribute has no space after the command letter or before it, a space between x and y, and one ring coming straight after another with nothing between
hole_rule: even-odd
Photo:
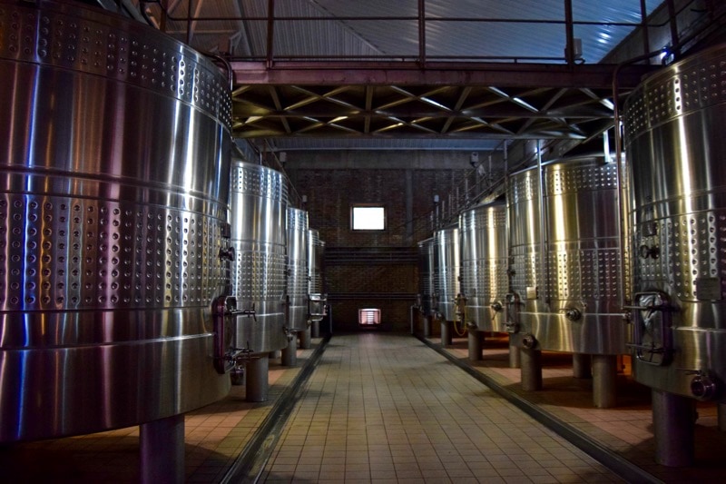
<instances>
[{"instance_id":1,"label":"third steel tank from the front in the right row","mask_svg":"<svg viewBox=\"0 0 726 484\"><path fill-rule=\"evenodd\" d=\"M486 203L462 212L459 233L463 321L470 331L506 331L506 203Z\"/></svg>"}]
</instances>

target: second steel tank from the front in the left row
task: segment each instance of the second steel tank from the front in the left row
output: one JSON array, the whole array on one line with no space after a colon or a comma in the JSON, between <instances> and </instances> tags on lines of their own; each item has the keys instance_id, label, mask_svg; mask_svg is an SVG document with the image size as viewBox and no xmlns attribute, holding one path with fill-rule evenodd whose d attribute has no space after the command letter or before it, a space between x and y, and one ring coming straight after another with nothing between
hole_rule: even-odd
<instances>
[{"instance_id":1,"label":"second steel tank from the front in the left row","mask_svg":"<svg viewBox=\"0 0 726 484\"><path fill-rule=\"evenodd\" d=\"M268 167L233 161L231 242L236 254L232 293L237 309L237 348L252 354L288 345L285 333L288 184Z\"/></svg>"}]
</instances>

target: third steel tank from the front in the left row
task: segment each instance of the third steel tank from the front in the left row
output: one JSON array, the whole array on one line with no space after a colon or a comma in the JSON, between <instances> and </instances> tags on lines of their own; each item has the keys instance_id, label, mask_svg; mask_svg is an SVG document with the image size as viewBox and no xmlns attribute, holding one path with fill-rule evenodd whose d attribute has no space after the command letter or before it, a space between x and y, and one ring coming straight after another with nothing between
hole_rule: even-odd
<instances>
[{"instance_id":1,"label":"third steel tank from the front in the left row","mask_svg":"<svg viewBox=\"0 0 726 484\"><path fill-rule=\"evenodd\" d=\"M288 207L289 331L306 331L308 318L308 212Z\"/></svg>"}]
</instances>

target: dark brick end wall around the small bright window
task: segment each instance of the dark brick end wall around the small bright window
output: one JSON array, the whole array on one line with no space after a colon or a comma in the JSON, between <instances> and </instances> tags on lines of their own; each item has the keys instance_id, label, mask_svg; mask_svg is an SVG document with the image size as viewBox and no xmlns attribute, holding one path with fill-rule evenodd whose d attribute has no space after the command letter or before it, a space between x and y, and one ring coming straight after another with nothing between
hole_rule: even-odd
<instances>
[{"instance_id":1,"label":"dark brick end wall around the small bright window","mask_svg":"<svg viewBox=\"0 0 726 484\"><path fill-rule=\"evenodd\" d=\"M293 158L289 156L289 159ZM290 166L292 165L292 166ZM291 183L307 197L310 228L317 229L329 252L386 251L410 247L430 237L434 195L444 198L466 173L464 169L370 168L341 170L299 168L289 163ZM352 232L353 203L381 203L387 209L387 230ZM333 312L333 331L358 331L358 309L381 310L381 330L408 331L409 308L418 292L415 260L364 262L326 257L326 291Z\"/></svg>"}]
</instances>

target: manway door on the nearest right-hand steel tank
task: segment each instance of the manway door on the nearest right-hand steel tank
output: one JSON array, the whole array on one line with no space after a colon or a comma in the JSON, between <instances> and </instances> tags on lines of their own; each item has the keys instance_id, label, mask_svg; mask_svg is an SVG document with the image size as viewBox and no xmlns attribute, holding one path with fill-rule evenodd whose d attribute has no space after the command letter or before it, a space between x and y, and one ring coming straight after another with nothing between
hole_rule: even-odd
<instances>
[{"instance_id":1,"label":"manway door on the nearest right-hand steel tank","mask_svg":"<svg viewBox=\"0 0 726 484\"><path fill-rule=\"evenodd\" d=\"M638 360L655 366L671 363L673 357L672 306L660 291L638 292L636 305L626 306L634 312L633 343Z\"/></svg>"}]
</instances>

